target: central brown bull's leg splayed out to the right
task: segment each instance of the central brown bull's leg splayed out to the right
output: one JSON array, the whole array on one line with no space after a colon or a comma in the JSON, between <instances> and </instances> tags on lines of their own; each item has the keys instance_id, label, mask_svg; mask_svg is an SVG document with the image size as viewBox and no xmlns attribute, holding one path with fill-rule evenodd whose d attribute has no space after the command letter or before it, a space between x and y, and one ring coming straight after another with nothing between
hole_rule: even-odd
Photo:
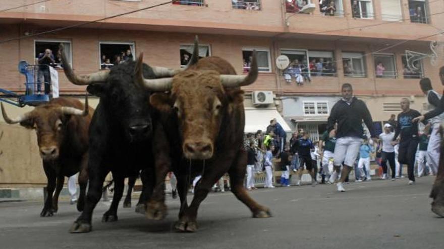
<instances>
[{"instance_id":1,"label":"central brown bull's leg splayed out to the right","mask_svg":"<svg viewBox=\"0 0 444 249\"><path fill-rule=\"evenodd\" d=\"M240 151L235 158L228 174L230 175L231 191L233 194L244 203L253 213L254 218L268 218L271 217L270 210L264 206L259 205L254 201L244 188L244 178L246 173L247 156L245 151Z\"/></svg>"}]
</instances>

